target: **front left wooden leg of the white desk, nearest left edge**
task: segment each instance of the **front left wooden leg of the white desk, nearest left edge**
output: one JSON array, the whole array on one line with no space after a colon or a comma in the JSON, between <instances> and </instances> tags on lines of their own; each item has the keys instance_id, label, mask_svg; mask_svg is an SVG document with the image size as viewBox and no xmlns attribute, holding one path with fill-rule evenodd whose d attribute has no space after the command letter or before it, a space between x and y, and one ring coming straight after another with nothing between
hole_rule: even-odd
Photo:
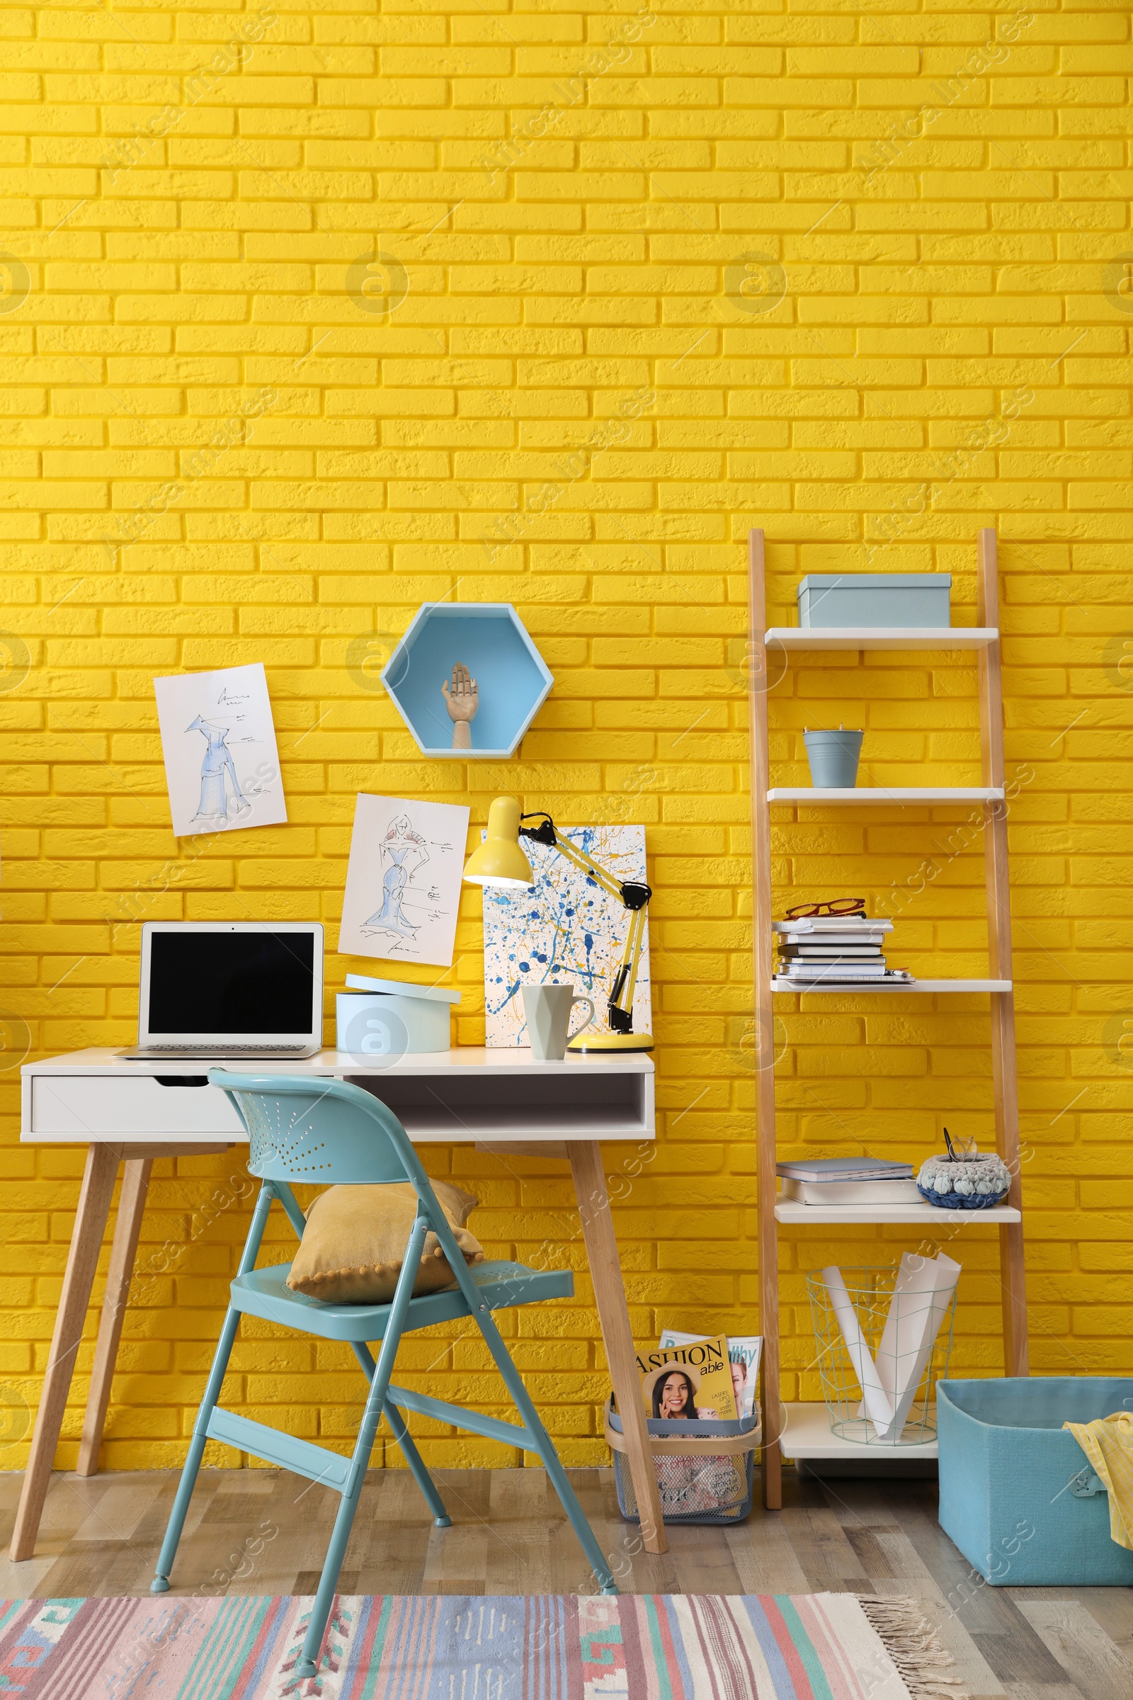
<instances>
[{"instance_id":1,"label":"front left wooden leg of the white desk, nearest left edge","mask_svg":"<svg viewBox=\"0 0 1133 1700\"><path fill-rule=\"evenodd\" d=\"M110 1214L110 1197L121 1156L121 1146L92 1144L87 1151L83 1188L78 1195L71 1250L66 1256L59 1311L54 1319L54 1334L51 1336L51 1357L39 1399L32 1450L24 1472L24 1491L20 1493L15 1528L12 1532L12 1557L17 1562L31 1559L36 1550L39 1518L48 1498L54 1448L59 1442L63 1411L66 1409L66 1396L71 1375L75 1374L78 1343L83 1336L90 1289L99 1265L107 1216Z\"/></svg>"}]
</instances>

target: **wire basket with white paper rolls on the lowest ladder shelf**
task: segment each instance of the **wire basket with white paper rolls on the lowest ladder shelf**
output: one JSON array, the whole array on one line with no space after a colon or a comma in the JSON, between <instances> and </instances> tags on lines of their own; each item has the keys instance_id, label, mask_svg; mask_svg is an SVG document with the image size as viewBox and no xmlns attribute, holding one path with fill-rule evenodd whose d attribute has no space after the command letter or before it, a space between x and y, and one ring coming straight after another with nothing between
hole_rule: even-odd
<instances>
[{"instance_id":1,"label":"wire basket with white paper rolls on the lowest ladder shelf","mask_svg":"<svg viewBox=\"0 0 1133 1700\"><path fill-rule=\"evenodd\" d=\"M936 1438L936 1382L948 1374L956 1309L955 1285L905 1292L897 1273L885 1266L807 1275L831 1433L890 1450Z\"/></svg>"}]
</instances>

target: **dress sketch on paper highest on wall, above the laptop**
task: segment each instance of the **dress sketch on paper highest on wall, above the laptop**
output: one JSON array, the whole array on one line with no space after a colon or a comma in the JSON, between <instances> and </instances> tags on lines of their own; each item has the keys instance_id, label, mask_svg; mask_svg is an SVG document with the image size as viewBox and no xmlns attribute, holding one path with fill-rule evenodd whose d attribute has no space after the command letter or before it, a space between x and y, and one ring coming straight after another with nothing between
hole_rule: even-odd
<instances>
[{"instance_id":1,"label":"dress sketch on paper highest on wall, above the laptop","mask_svg":"<svg viewBox=\"0 0 1133 1700\"><path fill-rule=\"evenodd\" d=\"M178 838L287 821L262 661L155 678Z\"/></svg>"}]
</instances>

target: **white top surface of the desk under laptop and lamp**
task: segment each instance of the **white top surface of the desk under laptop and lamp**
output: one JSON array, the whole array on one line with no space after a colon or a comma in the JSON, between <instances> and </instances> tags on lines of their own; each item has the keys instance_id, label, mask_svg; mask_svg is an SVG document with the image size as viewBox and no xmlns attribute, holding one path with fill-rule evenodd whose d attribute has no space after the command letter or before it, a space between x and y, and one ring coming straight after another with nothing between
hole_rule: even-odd
<instances>
[{"instance_id":1,"label":"white top surface of the desk under laptop and lamp","mask_svg":"<svg viewBox=\"0 0 1133 1700\"><path fill-rule=\"evenodd\" d=\"M644 1051L615 1052L608 1056L567 1056L562 1062L537 1062L532 1052L520 1047L486 1049L484 1046L457 1046L452 1051L420 1051L382 1062L379 1057L362 1059L345 1051L319 1051L313 1057L294 1061L262 1061L256 1057L144 1057L131 1061L110 1047L92 1046L87 1051L68 1051L58 1057L25 1062L20 1074L204 1074L211 1068L228 1068L246 1074L331 1074L340 1078L369 1074L652 1074L652 1057Z\"/></svg>"}]
</instances>

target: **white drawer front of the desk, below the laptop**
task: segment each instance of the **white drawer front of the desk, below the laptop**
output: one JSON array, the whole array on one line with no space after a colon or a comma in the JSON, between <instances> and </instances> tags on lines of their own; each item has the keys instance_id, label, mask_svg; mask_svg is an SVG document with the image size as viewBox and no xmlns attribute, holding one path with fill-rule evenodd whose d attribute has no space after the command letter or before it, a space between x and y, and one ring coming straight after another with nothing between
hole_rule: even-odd
<instances>
[{"instance_id":1,"label":"white drawer front of the desk, below the laptop","mask_svg":"<svg viewBox=\"0 0 1133 1700\"><path fill-rule=\"evenodd\" d=\"M219 1086L163 1086L151 1074L34 1074L29 1085L24 1139L248 1139Z\"/></svg>"}]
</instances>

